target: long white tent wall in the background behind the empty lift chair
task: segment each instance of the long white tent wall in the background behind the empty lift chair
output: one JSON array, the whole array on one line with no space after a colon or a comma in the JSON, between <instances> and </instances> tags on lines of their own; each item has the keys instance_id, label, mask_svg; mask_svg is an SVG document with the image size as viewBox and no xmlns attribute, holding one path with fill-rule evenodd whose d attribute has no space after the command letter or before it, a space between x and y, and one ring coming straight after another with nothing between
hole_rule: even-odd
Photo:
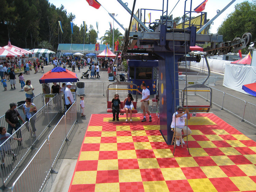
<instances>
[{"instance_id":1,"label":"long white tent wall in the background behind the empty lift chair","mask_svg":"<svg viewBox=\"0 0 256 192\"><path fill-rule=\"evenodd\" d=\"M225 65L230 64L230 61L226 61L226 60L208 59L208 58L207 60L208 60L211 71L215 71L218 73L224 73ZM187 65L189 65L189 61L187 61ZM207 65L203 57L201 58L201 61L199 63L197 63L196 61L191 61L190 66L197 67L200 69L205 69L207 71Z\"/></svg>"}]
</instances>

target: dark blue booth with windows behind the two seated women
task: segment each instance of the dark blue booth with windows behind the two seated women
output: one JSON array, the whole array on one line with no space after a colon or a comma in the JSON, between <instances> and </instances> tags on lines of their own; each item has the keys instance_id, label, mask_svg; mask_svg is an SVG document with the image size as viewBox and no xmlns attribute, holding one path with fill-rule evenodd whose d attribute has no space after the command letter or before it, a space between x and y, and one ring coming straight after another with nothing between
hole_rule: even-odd
<instances>
[{"instance_id":1,"label":"dark blue booth with windows behind the two seated women","mask_svg":"<svg viewBox=\"0 0 256 192\"><path fill-rule=\"evenodd\" d=\"M146 83L150 94L156 94L158 60L127 60L127 65L128 81L138 85L140 91L142 91L140 85ZM135 91L132 94L136 94Z\"/></svg>"}]
</instances>

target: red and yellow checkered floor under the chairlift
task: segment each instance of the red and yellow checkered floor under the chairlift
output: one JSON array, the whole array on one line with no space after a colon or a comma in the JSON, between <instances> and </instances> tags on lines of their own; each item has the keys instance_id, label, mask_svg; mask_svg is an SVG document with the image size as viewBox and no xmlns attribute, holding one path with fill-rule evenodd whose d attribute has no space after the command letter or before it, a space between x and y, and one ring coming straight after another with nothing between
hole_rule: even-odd
<instances>
[{"instance_id":1,"label":"red and yellow checkered floor under the chairlift","mask_svg":"<svg viewBox=\"0 0 256 192\"><path fill-rule=\"evenodd\" d=\"M69 192L256 192L256 142L216 115L191 118L174 155L155 114L120 117L91 116Z\"/></svg>"}]
</instances>

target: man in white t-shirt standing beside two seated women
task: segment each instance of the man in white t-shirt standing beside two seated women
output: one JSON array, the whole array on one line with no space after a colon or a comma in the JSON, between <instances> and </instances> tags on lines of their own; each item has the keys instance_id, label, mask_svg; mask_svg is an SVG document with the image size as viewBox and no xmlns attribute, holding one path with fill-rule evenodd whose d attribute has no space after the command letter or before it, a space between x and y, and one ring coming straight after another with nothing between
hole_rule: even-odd
<instances>
[{"instance_id":1,"label":"man in white t-shirt standing beside two seated women","mask_svg":"<svg viewBox=\"0 0 256 192\"><path fill-rule=\"evenodd\" d=\"M138 92L139 92L140 94L142 94L142 100L140 100L140 102L141 102L140 109L143 109L143 115L144 115L142 122L145 122L145 121L146 121L146 112L147 112L148 115L149 115L149 122L151 122L151 121L152 121L152 117L151 117L150 112L149 112L149 110L148 110L150 91L149 91L149 89L146 87L146 84L145 84L145 83L142 83L142 84L140 85L140 87L142 88L142 92L140 92L140 91L138 90Z\"/></svg>"}]
</instances>

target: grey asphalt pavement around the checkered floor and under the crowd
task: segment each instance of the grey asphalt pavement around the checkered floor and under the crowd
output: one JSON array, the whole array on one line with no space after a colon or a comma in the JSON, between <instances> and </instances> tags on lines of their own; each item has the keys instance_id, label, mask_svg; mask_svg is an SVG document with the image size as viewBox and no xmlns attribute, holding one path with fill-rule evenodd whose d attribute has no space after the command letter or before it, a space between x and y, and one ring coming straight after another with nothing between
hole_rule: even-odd
<instances>
[{"instance_id":1,"label":"grey asphalt pavement around the checkered floor and under the crowd","mask_svg":"<svg viewBox=\"0 0 256 192\"><path fill-rule=\"evenodd\" d=\"M53 66L44 66L44 71L47 72L51 70ZM70 68L68 68L70 69ZM81 72L78 72L76 68L76 74L77 77L80 79L82 71L87 71L88 68L81 69ZM31 84L35 88L35 95L42 93L42 86L39 83L39 79L42 77L43 73L39 72L34 74L35 71L30 71L29 75L24 74L25 80L31 80ZM108 74L107 71L100 71L100 79L86 79L83 81L108 81ZM21 86L18 83L18 72L16 72L16 90L11 90L10 82L7 82L7 90L3 91L3 86L0 87L0 97L1 97L1 113L0 115L4 115L5 112L9 109L9 104L11 102L18 102L25 100L25 92L21 91ZM50 86L52 83L50 84ZM223 87L221 85L214 86L214 88L217 88L218 90L224 91L225 93L229 93L233 96L239 97L241 99L244 99L248 102L251 102L253 104L256 104L256 99L253 96L249 96L246 94L242 94L233 90L230 90L226 87ZM153 95L151 96L153 97ZM139 97L140 98L140 97ZM123 100L124 98L120 98L120 100ZM58 174L51 174L51 177L49 179L48 184L46 184L46 187L43 191L52 191L52 192L66 192L68 191L71 178L73 175L73 172L75 170L76 162L79 156L79 151L81 148L81 143L83 141L87 125L90 120L91 114L95 113L106 113L106 97L104 96L85 96L85 112L86 118L81 118L80 114L78 113L78 124L75 125L73 128L73 132L71 133L72 139L71 141L67 142L67 145L65 146L63 153L57 162L57 165L55 167L55 171L58 172ZM218 107L213 106L211 109L211 112L215 115L219 116L221 119L229 123L231 126L238 129L240 132L242 132L247 137L253 139L256 141L256 128L252 127L245 122L241 122L239 119L235 118L233 115L227 113L224 110L220 110ZM255 115L255 114L254 114Z\"/></svg>"}]
</instances>

